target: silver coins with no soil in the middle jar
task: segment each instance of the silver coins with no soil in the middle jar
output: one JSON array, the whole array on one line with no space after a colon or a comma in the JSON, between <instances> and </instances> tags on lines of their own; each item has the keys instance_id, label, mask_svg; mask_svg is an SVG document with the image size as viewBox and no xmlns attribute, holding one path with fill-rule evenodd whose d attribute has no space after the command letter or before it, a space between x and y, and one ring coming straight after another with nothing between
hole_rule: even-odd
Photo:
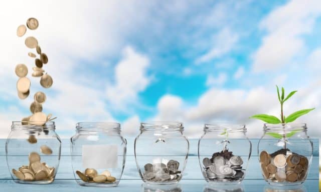
<instances>
[{"instance_id":1,"label":"silver coins with no soil in the middle jar","mask_svg":"<svg viewBox=\"0 0 321 192\"><path fill-rule=\"evenodd\" d=\"M165 163L147 163L144 165L144 180L153 182L174 181L181 178L180 163L177 160L169 160Z\"/></svg>"}]
</instances>

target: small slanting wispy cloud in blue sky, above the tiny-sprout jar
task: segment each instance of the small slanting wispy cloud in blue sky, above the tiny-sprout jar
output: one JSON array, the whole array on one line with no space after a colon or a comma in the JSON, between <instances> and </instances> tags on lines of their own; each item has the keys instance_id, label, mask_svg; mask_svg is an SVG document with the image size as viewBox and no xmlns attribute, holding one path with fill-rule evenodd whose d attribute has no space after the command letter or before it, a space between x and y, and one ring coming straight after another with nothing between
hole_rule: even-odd
<instances>
[{"instance_id":1,"label":"small slanting wispy cloud in blue sky, above the tiny-sprout jar","mask_svg":"<svg viewBox=\"0 0 321 192\"><path fill-rule=\"evenodd\" d=\"M214 36L213 47L196 59L196 64L210 61L228 53L238 40L238 35L229 28L224 28Z\"/></svg>"}]
</instances>

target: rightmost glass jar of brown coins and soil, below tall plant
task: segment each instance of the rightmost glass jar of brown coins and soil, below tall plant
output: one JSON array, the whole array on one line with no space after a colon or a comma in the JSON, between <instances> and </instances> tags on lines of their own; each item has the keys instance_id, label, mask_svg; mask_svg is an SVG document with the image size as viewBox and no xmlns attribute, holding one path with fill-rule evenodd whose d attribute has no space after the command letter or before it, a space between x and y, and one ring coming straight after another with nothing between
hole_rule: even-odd
<instances>
[{"instance_id":1,"label":"rightmost glass jar of brown coins and soil, below tall plant","mask_svg":"<svg viewBox=\"0 0 321 192\"><path fill-rule=\"evenodd\" d=\"M313 144L305 123L264 124L258 155L263 177L268 183L303 183L312 161L312 152Z\"/></svg>"}]
</instances>

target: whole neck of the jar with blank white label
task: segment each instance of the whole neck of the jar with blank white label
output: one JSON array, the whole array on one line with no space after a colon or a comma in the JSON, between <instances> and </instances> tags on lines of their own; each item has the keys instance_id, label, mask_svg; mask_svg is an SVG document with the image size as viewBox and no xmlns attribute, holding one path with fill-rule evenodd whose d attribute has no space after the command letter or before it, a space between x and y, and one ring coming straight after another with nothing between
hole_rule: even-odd
<instances>
[{"instance_id":1,"label":"whole neck of the jar with blank white label","mask_svg":"<svg viewBox=\"0 0 321 192\"><path fill-rule=\"evenodd\" d=\"M77 122L76 132L112 132L120 134L120 124L117 122Z\"/></svg>"}]
</instances>

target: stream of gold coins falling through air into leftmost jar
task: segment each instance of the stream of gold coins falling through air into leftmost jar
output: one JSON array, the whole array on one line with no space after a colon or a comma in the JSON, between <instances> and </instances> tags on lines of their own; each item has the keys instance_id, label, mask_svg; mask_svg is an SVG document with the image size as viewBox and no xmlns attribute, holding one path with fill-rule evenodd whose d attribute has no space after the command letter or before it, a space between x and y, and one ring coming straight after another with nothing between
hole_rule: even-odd
<instances>
[{"instance_id":1,"label":"stream of gold coins falling through air into leftmost jar","mask_svg":"<svg viewBox=\"0 0 321 192\"><path fill-rule=\"evenodd\" d=\"M31 30L37 29L39 26L39 22L36 18L29 18L27 20L27 27ZM27 27L22 24L18 26L17 29L17 35L19 37L23 36L26 31ZM35 58L35 67L33 67L33 77L41 77L40 78L40 84L44 88L49 88L53 84L52 77L45 73L45 70L43 69L43 64L48 63L48 57L46 53L43 53L39 44L38 40L33 36L28 36L25 39L25 44L28 48L36 48L36 52L39 54L39 58L35 58L36 54L33 52L29 52L28 55L30 57ZM15 72L17 76L19 77L17 81L17 90L18 90L18 96L20 99L25 99L30 94L30 86L31 81L27 77L28 74L28 67L25 64L17 64ZM34 95L34 102L30 105L30 111L33 113L32 115L25 117L22 119L22 124L34 124L42 126L44 125L48 120L52 120L49 118L50 115L46 115L42 112L42 104L46 101L46 94L44 92L38 91Z\"/></svg>"}]
</instances>

